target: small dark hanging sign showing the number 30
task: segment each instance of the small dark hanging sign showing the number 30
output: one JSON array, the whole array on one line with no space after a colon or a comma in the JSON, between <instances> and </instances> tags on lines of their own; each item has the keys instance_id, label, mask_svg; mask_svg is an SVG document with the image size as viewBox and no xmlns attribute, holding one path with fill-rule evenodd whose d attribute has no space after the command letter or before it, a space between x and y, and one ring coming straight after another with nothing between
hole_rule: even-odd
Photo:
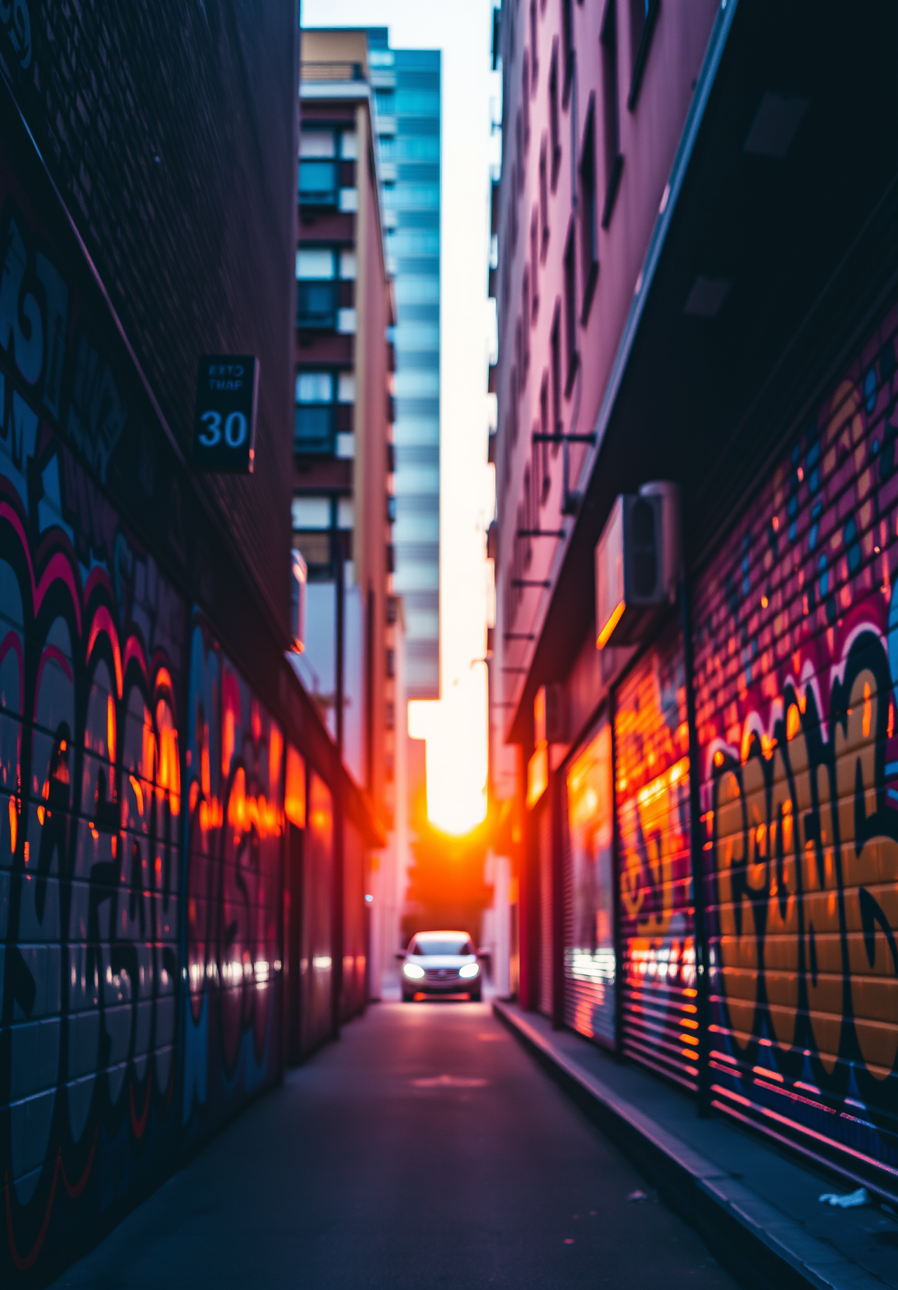
<instances>
[{"instance_id":1,"label":"small dark hanging sign showing the number 30","mask_svg":"<svg viewBox=\"0 0 898 1290\"><path fill-rule=\"evenodd\" d=\"M194 467L252 475L259 360L204 355L196 378Z\"/></svg>"}]
</instances>

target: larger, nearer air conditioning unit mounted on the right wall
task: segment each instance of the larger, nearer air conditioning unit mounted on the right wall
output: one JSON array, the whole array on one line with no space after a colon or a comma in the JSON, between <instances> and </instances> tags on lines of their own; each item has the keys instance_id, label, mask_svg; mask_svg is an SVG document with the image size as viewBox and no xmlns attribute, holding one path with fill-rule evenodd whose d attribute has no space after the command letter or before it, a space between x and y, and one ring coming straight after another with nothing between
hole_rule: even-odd
<instances>
[{"instance_id":1,"label":"larger, nearer air conditioning unit mounted on the right wall","mask_svg":"<svg viewBox=\"0 0 898 1290\"><path fill-rule=\"evenodd\" d=\"M635 645L681 577L680 489L667 480L621 494L596 546L596 645Z\"/></svg>"}]
</instances>

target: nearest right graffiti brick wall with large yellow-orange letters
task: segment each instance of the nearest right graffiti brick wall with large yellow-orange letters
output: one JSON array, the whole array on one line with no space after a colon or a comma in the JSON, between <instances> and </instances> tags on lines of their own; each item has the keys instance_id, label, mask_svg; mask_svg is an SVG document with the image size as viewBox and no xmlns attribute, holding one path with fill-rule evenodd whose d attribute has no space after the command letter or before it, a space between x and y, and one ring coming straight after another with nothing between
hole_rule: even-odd
<instances>
[{"instance_id":1,"label":"nearest right graffiti brick wall with large yellow-orange letters","mask_svg":"<svg viewBox=\"0 0 898 1290\"><path fill-rule=\"evenodd\" d=\"M697 590L715 1104L898 1180L893 311Z\"/></svg>"}]
</instances>

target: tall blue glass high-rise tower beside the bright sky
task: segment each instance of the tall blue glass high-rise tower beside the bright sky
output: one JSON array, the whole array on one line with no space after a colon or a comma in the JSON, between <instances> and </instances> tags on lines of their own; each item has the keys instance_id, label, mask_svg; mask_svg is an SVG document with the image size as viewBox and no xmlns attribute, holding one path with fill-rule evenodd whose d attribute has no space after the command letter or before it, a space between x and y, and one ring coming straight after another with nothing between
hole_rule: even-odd
<instances>
[{"instance_id":1,"label":"tall blue glass high-rise tower beside the bright sky","mask_svg":"<svg viewBox=\"0 0 898 1290\"><path fill-rule=\"evenodd\" d=\"M440 52L390 49L373 27L387 264L395 273L395 588L409 698L440 693Z\"/></svg>"}]
</instances>

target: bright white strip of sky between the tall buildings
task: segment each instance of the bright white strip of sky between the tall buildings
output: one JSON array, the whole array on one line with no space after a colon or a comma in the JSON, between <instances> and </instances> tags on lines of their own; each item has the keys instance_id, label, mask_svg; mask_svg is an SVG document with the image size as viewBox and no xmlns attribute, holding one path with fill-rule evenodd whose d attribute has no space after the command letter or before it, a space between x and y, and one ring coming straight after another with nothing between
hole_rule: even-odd
<instances>
[{"instance_id":1,"label":"bright white strip of sky between the tall buildings","mask_svg":"<svg viewBox=\"0 0 898 1290\"><path fill-rule=\"evenodd\" d=\"M495 322L486 299L490 166L499 159L501 86L492 71L493 0L303 0L303 27L390 28L394 49L443 50L440 266L440 694L409 704L427 740L427 808L462 833L486 809L485 529L488 364Z\"/></svg>"}]
</instances>

